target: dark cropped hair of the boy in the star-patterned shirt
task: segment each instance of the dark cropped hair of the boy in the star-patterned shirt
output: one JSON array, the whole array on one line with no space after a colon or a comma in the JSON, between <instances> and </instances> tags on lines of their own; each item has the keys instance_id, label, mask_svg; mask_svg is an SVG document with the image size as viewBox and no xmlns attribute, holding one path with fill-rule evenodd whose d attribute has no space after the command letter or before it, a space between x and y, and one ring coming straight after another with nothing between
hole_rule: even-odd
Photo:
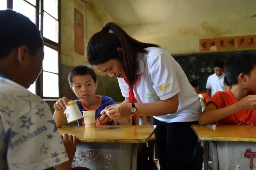
<instances>
[{"instance_id":1,"label":"dark cropped hair of the boy in the star-patterned shirt","mask_svg":"<svg viewBox=\"0 0 256 170\"><path fill-rule=\"evenodd\" d=\"M22 45L34 56L43 44L38 27L28 17L13 10L0 10L0 59Z\"/></svg>"}]
</instances>

